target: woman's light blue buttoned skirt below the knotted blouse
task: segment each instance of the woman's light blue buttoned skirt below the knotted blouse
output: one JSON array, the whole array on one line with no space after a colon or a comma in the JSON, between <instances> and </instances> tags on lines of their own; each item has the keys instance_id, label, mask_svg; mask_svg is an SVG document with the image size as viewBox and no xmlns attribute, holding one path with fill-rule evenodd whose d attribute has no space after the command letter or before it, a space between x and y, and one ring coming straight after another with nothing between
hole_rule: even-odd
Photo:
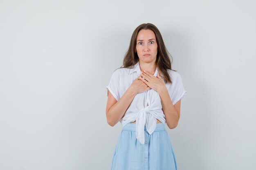
<instances>
[{"instance_id":1,"label":"woman's light blue buttoned skirt below the knotted blouse","mask_svg":"<svg viewBox=\"0 0 256 170\"><path fill-rule=\"evenodd\" d=\"M145 144L136 138L136 124L121 130L110 170L177 170L177 163L164 124L156 125L149 135L144 126Z\"/></svg>"}]
</instances>

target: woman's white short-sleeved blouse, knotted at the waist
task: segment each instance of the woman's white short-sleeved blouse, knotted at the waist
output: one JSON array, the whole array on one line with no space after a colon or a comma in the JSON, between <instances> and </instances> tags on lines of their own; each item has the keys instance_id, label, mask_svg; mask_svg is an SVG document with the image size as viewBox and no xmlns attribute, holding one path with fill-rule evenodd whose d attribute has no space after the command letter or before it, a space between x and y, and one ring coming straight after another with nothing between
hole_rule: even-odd
<instances>
[{"instance_id":1,"label":"woman's white short-sleeved blouse, knotted at the waist","mask_svg":"<svg viewBox=\"0 0 256 170\"><path fill-rule=\"evenodd\" d=\"M107 88L108 91L117 99L117 101L124 95L127 88L132 84L133 80L137 79L141 73L139 62L133 68L118 68L111 76L110 83ZM157 76L157 69L154 76ZM165 84L168 89L173 105L186 95L184 90L182 78L176 71L168 69L172 84ZM162 77L162 79L164 79ZM132 100L130 106L120 119L122 126L126 126L130 122L136 121L136 137L141 144L144 144L144 126L149 134L153 133L156 127L157 120L163 124L166 123L165 115L162 110L162 103L157 91L150 89L144 93L137 93Z\"/></svg>"}]
</instances>

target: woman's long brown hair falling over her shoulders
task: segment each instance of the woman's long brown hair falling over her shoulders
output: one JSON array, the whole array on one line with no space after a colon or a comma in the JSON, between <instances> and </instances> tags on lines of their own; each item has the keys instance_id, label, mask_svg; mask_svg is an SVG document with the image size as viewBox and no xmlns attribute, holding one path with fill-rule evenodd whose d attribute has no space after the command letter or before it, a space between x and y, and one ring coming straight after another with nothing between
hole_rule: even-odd
<instances>
[{"instance_id":1,"label":"woman's long brown hair falling over her shoulders","mask_svg":"<svg viewBox=\"0 0 256 170\"><path fill-rule=\"evenodd\" d=\"M141 29L150 29L155 33L155 37L157 41L156 65L157 65L158 72L160 75L164 77L165 83L167 82L172 83L171 78L167 71L167 69L172 70L171 61L170 61L170 58L172 59L171 54L168 53L164 45L164 40L162 38L160 31L157 29L155 25L150 23L141 24L133 31L132 37L130 40L130 46L125 54L123 66L121 66L121 68L132 68L137 62L139 62L139 57L137 53L135 53L135 49L136 49L136 38Z\"/></svg>"}]
</instances>

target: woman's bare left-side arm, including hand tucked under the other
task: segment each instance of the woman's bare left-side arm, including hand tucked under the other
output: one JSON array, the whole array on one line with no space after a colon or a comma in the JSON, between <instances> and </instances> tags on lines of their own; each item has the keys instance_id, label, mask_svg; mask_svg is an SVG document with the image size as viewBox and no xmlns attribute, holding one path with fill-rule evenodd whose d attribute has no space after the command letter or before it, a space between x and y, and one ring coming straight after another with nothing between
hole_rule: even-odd
<instances>
[{"instance_id":1,"label":"woman's bare left-side arm, including hand tucked under the other","mask_svg":"<svg viewBox=\"0 0 256 170\"><path fill-rule=\"evenodd\" d=\"M144 82L139 79L139 77L132 82L130 87L118 101L108 91L106 117L110 126L115 126L115 124L117 124L117 122L124 116L124 113L130 106L133 98L137 93L142 93L150 89Z\"/></svg>"}]
</instances>

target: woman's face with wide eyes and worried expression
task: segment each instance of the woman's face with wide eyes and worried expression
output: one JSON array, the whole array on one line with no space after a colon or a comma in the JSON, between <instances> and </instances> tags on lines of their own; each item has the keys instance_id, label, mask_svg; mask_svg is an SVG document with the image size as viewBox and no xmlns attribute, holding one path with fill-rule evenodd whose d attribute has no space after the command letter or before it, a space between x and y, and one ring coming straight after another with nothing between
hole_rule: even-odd
<instances>
[{"instance_id":1,"label":"woman's face with wide eyes and worried expression","mask_svg":"<svg viewBox=\"0 0 256 170\"><path fill-rule=\"evenodd\" d=\"M157 41L155 33L150 29L141 29L136 38L136 51L139 60L155 63L157 58Z\"/></svg>"}]
</instances>

